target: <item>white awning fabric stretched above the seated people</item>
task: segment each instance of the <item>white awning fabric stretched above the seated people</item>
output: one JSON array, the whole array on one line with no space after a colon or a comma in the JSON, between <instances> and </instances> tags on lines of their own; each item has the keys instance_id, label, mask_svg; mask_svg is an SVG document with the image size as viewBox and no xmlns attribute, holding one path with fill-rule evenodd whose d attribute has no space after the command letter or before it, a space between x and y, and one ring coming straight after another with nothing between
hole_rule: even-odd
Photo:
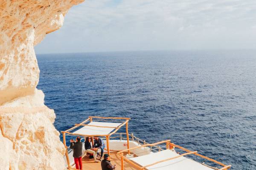
<instances>
[{"instance_id":1,"label":"white awning fabric stretched above the seated people","mask_svg":"<svg viewBox=\"0 0 256 170\"><path fill-rule=\"evenodd\" d=\"M122 123L90 122L88 125L108 126L108 127L83 126L81 129L76 130L73 133L79 133L79 134L88 135L88 136L89 135L96 135L96 136L97 135L108 135L113 130L115 130L115 127L118 127L121 124Z\"/></svg>"}]
</instances>

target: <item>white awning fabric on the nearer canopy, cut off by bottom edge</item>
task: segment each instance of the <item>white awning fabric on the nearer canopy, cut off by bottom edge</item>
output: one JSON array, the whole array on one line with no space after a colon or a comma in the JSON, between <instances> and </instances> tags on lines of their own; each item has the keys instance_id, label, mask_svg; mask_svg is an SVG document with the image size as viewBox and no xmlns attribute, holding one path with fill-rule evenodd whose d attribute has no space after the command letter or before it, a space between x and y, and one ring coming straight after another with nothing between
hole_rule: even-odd
<instances>
[{"instance_id":1,"label":"white awning fabric on the nearer canopy, cut off by bottom edge","mask_svg":"<svg viewBox=\"0 0 256 170\"><path fill-rule=\"evenodd\" d=\"M172 158L175 156L179 156L179 154L173 152L172 150L163 150L160 152L131 158L131 160L143 167L145 165L152 164L154 162L161 161L163 159ZM179 158L172 159L169 161L164 161L158 164L154 164L150 167L146 167L146 169L148 170L212 170L211 168L206 167L184 156L181 156Z\"/></svg>"}]
</instances>

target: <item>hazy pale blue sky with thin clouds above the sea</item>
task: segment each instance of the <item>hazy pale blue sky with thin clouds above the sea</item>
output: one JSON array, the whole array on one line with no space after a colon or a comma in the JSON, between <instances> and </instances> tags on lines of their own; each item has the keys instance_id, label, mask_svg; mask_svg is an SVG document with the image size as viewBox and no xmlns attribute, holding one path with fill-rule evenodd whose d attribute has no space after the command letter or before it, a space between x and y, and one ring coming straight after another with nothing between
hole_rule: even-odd
<instances>
[{"instance_id":1,"label":"hazy pale blue sky with thin clouds above the sea","mask_svg":"<svg viewBox=\"0 0 256 170\"><path fill-rule=\"evenodd\" d=\"M85 0L36 53L256 49L256 0Z\"/></svg>"}]
</instances>

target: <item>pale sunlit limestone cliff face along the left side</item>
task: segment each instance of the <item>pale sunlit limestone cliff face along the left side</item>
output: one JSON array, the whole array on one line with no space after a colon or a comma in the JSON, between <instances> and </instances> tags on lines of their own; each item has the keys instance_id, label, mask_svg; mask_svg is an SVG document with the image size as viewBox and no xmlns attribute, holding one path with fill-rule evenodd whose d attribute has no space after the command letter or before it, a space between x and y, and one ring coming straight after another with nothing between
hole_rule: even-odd
<instances>
[{"instance_id":1,"label":"pale sunlit limestone cliff face along the left side","mask_svg":"<svg viewBox=\"0 0 256 170\"><path fill-rule=\"evenodd\" d=\"M64 170L55 113L36 89L34 46L84 0L0 0L0 170Z\"/></svg>"}]
</instances>

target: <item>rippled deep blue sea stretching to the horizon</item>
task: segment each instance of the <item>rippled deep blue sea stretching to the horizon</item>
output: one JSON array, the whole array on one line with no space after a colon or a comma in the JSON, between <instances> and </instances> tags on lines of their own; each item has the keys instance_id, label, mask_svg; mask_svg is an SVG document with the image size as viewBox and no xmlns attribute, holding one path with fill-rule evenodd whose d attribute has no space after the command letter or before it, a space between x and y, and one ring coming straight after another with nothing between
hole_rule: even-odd
<instances>
[{"instance_id":1,"label":"rippled deep blue sea stretching to the horizon","mask_svg":"<svg viewBox=\"0 0 256 170\"><path fill-rule=\"evenodd\" d=\"M256 51L38 54L38 89L66 130L131 117L129 132L256 170ZM201 159L198 159L201 161Z\"/></svg>"}]
</instances>

